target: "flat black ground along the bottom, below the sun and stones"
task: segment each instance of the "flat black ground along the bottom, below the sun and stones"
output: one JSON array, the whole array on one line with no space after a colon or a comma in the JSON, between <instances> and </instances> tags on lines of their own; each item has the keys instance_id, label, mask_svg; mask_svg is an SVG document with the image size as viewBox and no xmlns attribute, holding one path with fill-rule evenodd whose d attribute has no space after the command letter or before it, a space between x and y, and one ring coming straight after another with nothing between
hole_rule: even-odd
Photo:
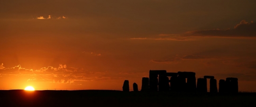
<instances>
[{"instance_id":1,"label":"flat black ground along the bottom, below the sun and stones","mask_svg":"<svg viewBox=\"0 0 256 107\"><path fill-rule=\"evenodd\" d=\"M0 90L0 107L256 107L256 93Z\"/></svg>"}]
</instances>

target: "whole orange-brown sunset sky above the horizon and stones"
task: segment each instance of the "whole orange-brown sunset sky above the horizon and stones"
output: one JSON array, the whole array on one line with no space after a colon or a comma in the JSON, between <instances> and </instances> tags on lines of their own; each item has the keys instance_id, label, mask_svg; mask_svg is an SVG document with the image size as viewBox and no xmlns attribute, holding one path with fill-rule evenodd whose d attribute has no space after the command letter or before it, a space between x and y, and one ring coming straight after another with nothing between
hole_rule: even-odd
<instances>
[{"instance_id":1,"label":"whole orange-brown sunset sky above the horizon and stones","mask_svg":"<svg viewBox=\"0 0 256 107\"><path fill-rule=\"evenodd\" d=\"M256 90L255 0L0 0L0 89L130 90L149 70ZM209 83L210 80L208 80ZM209 84L208 84L209 85Z\"/></svg>"}]
</instances>

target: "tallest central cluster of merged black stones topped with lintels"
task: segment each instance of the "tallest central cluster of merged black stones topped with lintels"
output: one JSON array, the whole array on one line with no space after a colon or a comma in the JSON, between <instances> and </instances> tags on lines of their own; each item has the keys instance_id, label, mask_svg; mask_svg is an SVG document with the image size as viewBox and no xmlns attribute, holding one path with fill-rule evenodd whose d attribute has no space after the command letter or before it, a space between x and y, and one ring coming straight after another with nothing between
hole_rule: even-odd
<instances>
[{"instance_id":1,"label":"tallest central cluster of merged black stones topped with lintels","mask_svg":"<svg viewBox=\"0 0 256 107\"><path fill-rule=\"evenodd\" d=\"M168 77L171 77L170 80ZM165 70L150 70L149 71L149 90L195 92L196 91L195 72L179 71L175 73L175 72L166 72Z\"/></svg>"}]
</instances>

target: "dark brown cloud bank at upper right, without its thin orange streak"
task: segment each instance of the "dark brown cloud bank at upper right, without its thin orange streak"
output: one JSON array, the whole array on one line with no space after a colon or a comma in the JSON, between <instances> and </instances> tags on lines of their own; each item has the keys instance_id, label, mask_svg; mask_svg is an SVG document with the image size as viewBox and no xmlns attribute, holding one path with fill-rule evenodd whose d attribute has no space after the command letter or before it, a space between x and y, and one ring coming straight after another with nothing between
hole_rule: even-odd
<instances>
[{"instance_id":1,"label":"dark brown cloud bank at upper right, without its thin orange streak","mask_svg":"<svg viewBox=\"0 0 256 107\"><path fill-rule=\"evenodd\" d=\"M196 30L186 32L182 36L256 37L256 23L242 20L234 29Z\"/></svg>"}]
</instances>

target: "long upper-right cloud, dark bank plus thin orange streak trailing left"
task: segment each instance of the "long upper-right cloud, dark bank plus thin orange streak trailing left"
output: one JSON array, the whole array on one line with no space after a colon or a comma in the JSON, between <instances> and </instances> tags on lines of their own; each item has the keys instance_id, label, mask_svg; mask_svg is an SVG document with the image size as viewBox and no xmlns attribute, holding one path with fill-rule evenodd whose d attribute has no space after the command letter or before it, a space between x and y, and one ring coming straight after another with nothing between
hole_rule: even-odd
<instances>
[{"instance_id":1,"label":"long upper-right cloud, dark bank plus thin orange streak trailing left","mask_svg":"<svg viewBox=\"0 0 256 107\"><path fill-rule=\"evenodd\" d=\"M138 38L130 38L131 40L171 40L171 41L187 41L194 40L190 36L206 36L206 37L256 37L256 23L253 21L247 22L246 20L242 20L239 24L234 26L234 28L228 28L225 30L221 30L219 28L216 29L208 29L208 30L195 30L195 31L187 31L184 34L159 34L158 36L153 37L138 37Z\"/></svg>"}]
</instances>

